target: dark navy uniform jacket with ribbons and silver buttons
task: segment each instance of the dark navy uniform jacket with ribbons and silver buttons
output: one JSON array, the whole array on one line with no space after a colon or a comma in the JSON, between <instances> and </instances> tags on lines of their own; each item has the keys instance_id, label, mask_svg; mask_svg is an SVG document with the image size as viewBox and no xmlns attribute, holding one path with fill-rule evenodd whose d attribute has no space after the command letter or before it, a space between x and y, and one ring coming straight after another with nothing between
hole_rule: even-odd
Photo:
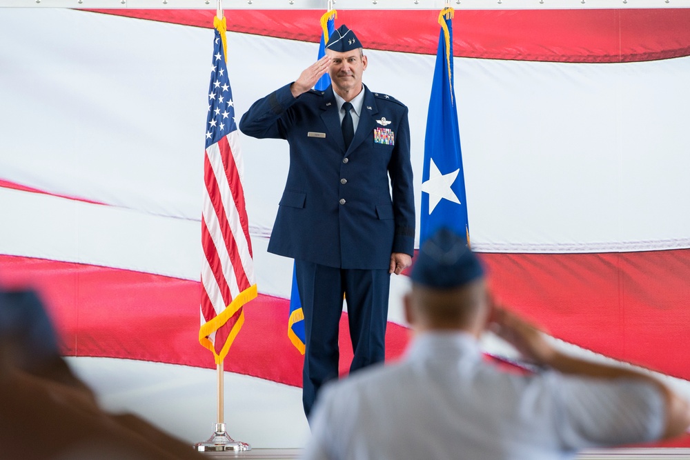
<instances>
[{"instance_id":1,"label":"dark navy uniform jacket with ribbons and silver buttons","mask_svg":"<svg viewBox=\"0 0 690 460\"><path fill-rule=\"evenodd\" d=\"M331 86L295 98L288 84L242 116L244 134L286 139L290 145L268 252L355 269L387 269L392 252L413 254L408 109L363 90L359 124L347 150Z\"/></svg>"}]
</instances>

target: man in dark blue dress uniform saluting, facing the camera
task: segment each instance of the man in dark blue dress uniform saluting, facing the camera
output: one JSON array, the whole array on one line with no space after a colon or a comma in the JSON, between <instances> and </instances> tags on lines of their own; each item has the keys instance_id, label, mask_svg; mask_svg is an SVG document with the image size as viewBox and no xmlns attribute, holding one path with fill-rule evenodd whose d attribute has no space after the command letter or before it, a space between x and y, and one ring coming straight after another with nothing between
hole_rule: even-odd
<instances>
[{"instance_id":1,"label":"man in dark blue dress uniform saluting, facing the camera","mask_svg":"<svg viewBox=\"0 0 690 460\"><path fill-rule=\"evenodd\" d=\"M362 83L367 59L341 26L326 55L256 101L239 129L286 139L290 169L268 251L295 259L304 310L304 411L338 377L346 299L353 372L384 360L391 273L411 265L415 205L408 110ZM323 74L331 86L312 90Z\"/></svg>"}]
</instances>

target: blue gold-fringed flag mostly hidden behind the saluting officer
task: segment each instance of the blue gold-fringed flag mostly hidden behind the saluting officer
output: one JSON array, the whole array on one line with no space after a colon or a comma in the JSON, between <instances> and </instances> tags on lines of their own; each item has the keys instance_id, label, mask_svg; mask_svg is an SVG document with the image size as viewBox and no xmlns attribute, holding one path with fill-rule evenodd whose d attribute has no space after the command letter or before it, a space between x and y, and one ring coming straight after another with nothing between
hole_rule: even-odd
<instances>
[{"instance_id":1,"label":"blue gold-fringed flag mostly hidden behind the saluting officer","mask_svg":"<svg viewBox=\"0 0 690 460\"><path fill-rule=\"evenodd\" d=\"M321 59L326 54L326 43L328 37L331 37L333 30L335 30L335 18L337 12L335 10L327 11L321 17L321 43L319 44L319 54L317 59ZM331 85L331 77L328 73L324 74L319 81L316 82L314 89L323 91ZM288 337L293 345L304 354L306 337L304 334L304 310L302 310L302 301L299 299L299 290L297 290L297 275L295 274L295 266L293 264L293 287L290 292L290 316L288 317Z\"/></svg>"}]
</instances>

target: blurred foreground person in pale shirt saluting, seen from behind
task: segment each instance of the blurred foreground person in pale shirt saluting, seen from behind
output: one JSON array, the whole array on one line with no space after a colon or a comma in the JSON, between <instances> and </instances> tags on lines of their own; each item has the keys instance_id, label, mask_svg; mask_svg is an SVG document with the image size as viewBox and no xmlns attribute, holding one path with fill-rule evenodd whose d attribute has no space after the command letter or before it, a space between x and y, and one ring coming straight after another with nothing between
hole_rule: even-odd
<instances>
[{"instance_id":1,"label":"blurred foreground person in pale shirt saluting, seen from behind","mask_svg":"<svg viewBox=\"0 0 690 460\"><path fill-rule=\"evenodd\" d=\"M411 279L406 357L324 388L306 459L572 459L690 425L688 402L659 381L566 356L491 306L464 237L437 232ZM506 372L483 359L477 341L487 327L543 370Z\"/></svg>"}]
</instances>

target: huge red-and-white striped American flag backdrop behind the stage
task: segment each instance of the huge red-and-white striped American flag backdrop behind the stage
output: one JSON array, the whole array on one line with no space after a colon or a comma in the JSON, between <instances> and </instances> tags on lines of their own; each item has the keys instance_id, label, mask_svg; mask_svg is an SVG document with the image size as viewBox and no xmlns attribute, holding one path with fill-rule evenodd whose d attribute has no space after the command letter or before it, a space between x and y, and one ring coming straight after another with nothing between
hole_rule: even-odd
<instances>
[{"instance_id":1,"label":"huge red-and-white striped American flag backdrop behind the stage","mask_svg":"<svg viewBox=\"0 0 690 460\"><path fill-rule=\"evenodd\" d=\"M197 402L215 391L194 383L215 368L197 340L213 14L0 16L0 284L39 290L83 372L107 362L103 372L131 375L112 406L190 441L208 434L213 399ZM314 61L322 14L226 12L237 116ZM368 48L365 83L410 108L417 212L437 17L342 10L336 21ZM456 10L453 37L472 244L493 290L573 352L649 368L690 394L690 10ZM256 447L299 447L292 261L266 253L287 145L239 137L259 292L225 360L227 397L242 401L228 418ZM407 287L394 277L391 359L408 341ZM168 412L137 399L149 385L137 366L175 375L155 392L180 391Z\"/></svg>"}]
</instances>

